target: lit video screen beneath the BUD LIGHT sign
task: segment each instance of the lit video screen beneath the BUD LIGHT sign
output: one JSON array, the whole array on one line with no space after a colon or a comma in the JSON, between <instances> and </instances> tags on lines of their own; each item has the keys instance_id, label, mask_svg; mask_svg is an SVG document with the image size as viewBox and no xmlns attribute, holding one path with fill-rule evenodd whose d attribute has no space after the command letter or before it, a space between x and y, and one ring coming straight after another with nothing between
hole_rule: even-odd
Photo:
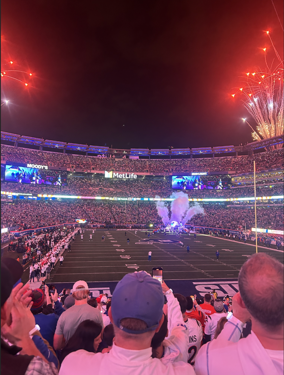
<instances>
[{"instance_id":1,"label":"lit video screen beneath the BUD LIGHT sign","mask_svg":"<svg viewBox=\"0 0 284 375\"><path fill-rule=\"evenodd\" d=\"M179 190L228 189L231 177L221 175L172 176L172 188Z\"/></svg>"}]
</instances>

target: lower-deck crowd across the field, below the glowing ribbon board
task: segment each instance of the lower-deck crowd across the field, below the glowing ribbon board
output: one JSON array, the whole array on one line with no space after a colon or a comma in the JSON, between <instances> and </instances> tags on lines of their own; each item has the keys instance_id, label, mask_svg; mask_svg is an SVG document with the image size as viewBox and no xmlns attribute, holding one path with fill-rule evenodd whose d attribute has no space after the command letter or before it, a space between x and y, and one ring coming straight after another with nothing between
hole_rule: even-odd
<instances>
[{"instance_id":1,"label":"lower-deck crowd across the field, below the glowing ribbon board","mask_svg":"<svg viewBox=\"0 0 284 375\"><path fill-rule=\"evenodd\" d=\"M169 207L169 204L168 204ZM188 224L225 229L250 229L254 226L252 208L224 208L219 204L203 204L205 214L196 214ZM170 214L170 209L169 209ZM89 223L162 224L155 202L143 201L21 201L1 206L1 225L20 228L73 223L86 219ZM283 229L283 207L257 207L259 228Z\"/></svg>"}]
</instances>

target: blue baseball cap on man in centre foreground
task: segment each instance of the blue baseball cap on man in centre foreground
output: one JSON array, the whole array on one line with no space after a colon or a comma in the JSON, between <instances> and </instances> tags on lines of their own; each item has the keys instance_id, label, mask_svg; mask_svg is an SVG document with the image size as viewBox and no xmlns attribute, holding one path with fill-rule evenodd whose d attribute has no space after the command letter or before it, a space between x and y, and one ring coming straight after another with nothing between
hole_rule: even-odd
<instances>
[{"instance_id":1,"label":"blue baseball cap on man in centre foreground","mask_svg":"<svg viewBox=\"0 0 284 375\"><path fill-rule=\"evenodd\" d=\"M115 287L111 299L114 324L128 333L154 331L163 316L164 295L161 283L147 272L128 273ZM133 331L121 326L124 318L141 319L147 324L145 330Z\"/></svg>"}]
</instances>

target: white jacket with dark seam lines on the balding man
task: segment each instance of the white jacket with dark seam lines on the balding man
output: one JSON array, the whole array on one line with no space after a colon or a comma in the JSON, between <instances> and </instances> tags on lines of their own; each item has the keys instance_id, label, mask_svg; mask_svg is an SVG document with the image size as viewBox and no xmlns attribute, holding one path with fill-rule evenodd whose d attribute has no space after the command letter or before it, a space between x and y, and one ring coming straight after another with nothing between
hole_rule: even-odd
<instances>
[{"instance_id":1,"label":"white jacket with dark seam lines on the balding man","mask_svg":"<svg viewBox=\"0 0 284 375\"><path fill-rule=\"evenodd\" d=\"M195 361L197 375L223 374L224 359L231 364L230 375L283 375L283 351L277 351L282 359L271 359L253 331L240 340L243 326L232 317L217 339L200 348Z\"/></svg>"}]
</instances>

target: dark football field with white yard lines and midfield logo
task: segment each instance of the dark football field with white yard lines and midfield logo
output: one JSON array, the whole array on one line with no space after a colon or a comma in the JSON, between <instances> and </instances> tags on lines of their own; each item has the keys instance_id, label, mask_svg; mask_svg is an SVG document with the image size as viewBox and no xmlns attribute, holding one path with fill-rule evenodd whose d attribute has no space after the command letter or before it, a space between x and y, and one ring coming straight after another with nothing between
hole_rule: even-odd
<instances>
[{"instance_id":1,"label":"dark football field with white yard lines and midfield logo","mask_svg":"<svg viewBox=\"0 0 284 375\"><path fill-rule=\"evenodd\" d=\"M93 239L90 241L90 234ZM102 236L105 241L102 242ZM130 242L127 245L127 238ZM185 246L180 246L182 242ZM186 246L190 246L187 253ZM220 252L217 260L215 252ZM151 261L148 252L152 251ZM242 264L256 251L255 246L222 238L194 235L154 234L148 239L144 231L85 229L84 239L78 234L71 243L71 252L64 252L51 272L50 282L120 281L129 272L163 267L164 280L236 279ZM259 248L283 263L283 252Z\"/></svg>"}]
</instances>

